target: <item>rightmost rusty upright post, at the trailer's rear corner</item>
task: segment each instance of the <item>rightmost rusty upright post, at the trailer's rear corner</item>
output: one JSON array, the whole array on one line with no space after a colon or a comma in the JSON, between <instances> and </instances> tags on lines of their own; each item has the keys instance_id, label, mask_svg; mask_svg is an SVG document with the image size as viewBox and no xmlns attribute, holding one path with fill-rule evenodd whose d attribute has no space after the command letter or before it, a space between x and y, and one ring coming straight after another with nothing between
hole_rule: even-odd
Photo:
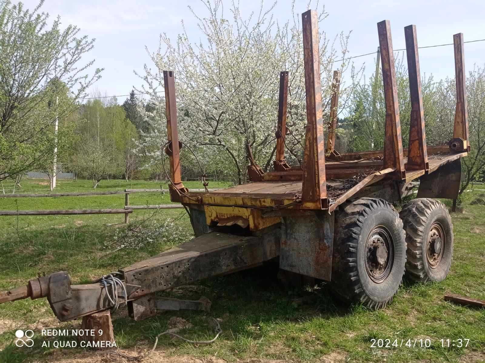
<instances>
[{"instance_id":1,"label":"rightmost rusty upright post, at the trailer's rear corner","mask_svg":"<svg viewBox=\"0 0 485 363\"><path fill-rule=\"evenodd\" d=\"M453 137L465 140L465 151L470 151L468 144L468 106L467 106L467 75L465 73L465 53L463 33L453 35L456 80L456 109L453 127ZM463 150L461 150L463 151Z\"/></svg>"}]
</instances>

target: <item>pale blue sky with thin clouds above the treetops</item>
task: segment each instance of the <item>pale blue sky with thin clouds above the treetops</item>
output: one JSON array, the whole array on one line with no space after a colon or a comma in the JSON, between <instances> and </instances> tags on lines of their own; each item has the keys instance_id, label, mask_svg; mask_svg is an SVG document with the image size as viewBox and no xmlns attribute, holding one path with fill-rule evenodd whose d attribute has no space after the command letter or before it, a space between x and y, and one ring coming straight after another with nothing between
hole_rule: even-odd
<instances>
[{"instance_id":1,"label":"pale blue sky with thin clouds above the treetops","mask_svg":"<svg viewBox=\"0 0 485 363\"><path fill-rule=\"evenodd\" d=\"M295 10L307 10L307 0L295 0ZM27 8L33 8L38 0L24 0ZM224 0L229 7L230 1ZM265 1L266 7L273 1ZM464 40L485 39L484 0L339 0L320 1L328 17L320 27L330 37L340 32L352 31L349 54L356 56L375 51L378 46L376 23L388 19L394 49L405 48L404 27L415 24L418 46L453 43L453 34L464 33ZM64 26L77 25L80 34L96 38L95 47L85 61L95 59L95 66L104 68L102 78L89 90L95 89L108 96L127 95L133 87L143 84L134 71L143 74L143 66L154 67L146 52L156 51L159 36L166 33L175 41L182 32L184 20L189 38L198 40L194 16L204 15L201 0L45 0L42 11L51 18L59 15ZM310 5L315 8L315 2ZM259 1L243 0L242 15L259 9ZM279 22L291 17L291 0L278 0L274 16ZM420 49L421 75L433 74L435 80L453 77L453 46ZM375 69L375 55L356 58L357 67L366 66L365 75ZM465 69L485 64L485 41L465 44ZM336 65L337 68L337 65ZM291 71L291 69L290 69ZM275 75L277 82L278 75ZM119 97L122 103L126 97Z\"/></svg>"}]
</instances>

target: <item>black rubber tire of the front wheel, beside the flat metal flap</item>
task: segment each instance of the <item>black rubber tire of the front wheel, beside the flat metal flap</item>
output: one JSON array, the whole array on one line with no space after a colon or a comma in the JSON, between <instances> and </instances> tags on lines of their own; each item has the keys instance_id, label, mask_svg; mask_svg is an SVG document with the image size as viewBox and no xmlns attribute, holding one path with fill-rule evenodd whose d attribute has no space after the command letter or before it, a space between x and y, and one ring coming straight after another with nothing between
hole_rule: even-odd
<instances>
[{"instance_id":1,"label":"black rubber tire of the front wheel, beside the flat metal flap","mask_svg":"<svg viewBox=\"0 0 485 363\"><path fill-rule=\"evenodd\" d=\"M360 198L350 201L335 214L332 291L337 297L371 309L385 308L403 281L406 242L403 222L387 201ZM376 226L388 230L394 246L394 263L388 278L376 283L365 267L365 244Z\"/></svg>"}]
</instances>

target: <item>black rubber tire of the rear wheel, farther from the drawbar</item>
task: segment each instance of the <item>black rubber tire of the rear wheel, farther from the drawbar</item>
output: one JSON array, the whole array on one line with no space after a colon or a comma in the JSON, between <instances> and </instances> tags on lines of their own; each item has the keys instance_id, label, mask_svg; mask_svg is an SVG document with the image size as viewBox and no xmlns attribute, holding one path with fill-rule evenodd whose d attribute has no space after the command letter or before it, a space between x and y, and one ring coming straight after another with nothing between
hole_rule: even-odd
<instances>
[{"instance_id":1,"label":"black rubber tire of the rear wheel, farther from the drawbar","mask_svg":"<svg viewBox=\"0 0 485 363\"><path fill-rule=\"evenodd\" d=\"M417 282L445 280L453 256L453 224L446 206L435 199L417 198L405 204L399 216L406 232L406 277ZM435 222L443 227L446 243L440 263L431 268L424 256L428 234Z\"/></svg>"}]
</instances>

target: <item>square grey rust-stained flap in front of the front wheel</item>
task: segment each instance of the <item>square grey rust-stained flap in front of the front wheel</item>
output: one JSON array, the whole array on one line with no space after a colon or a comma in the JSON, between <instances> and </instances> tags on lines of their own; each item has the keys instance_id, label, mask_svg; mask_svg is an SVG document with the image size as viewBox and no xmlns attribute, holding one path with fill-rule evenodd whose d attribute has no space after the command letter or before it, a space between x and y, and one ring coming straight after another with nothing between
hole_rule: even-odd
<instances>
[{"instance_id":1,"label":"square grey rust-stained flap in front of the front wheel","mask_svg":"<svg viewBox=\"0 0 485 363\"><path fill-rule=\"evenodd\" d=\"M330 281L334 214L304 212L283 217L279 267L283 270Z\"/></svg>"}]
</instances>

